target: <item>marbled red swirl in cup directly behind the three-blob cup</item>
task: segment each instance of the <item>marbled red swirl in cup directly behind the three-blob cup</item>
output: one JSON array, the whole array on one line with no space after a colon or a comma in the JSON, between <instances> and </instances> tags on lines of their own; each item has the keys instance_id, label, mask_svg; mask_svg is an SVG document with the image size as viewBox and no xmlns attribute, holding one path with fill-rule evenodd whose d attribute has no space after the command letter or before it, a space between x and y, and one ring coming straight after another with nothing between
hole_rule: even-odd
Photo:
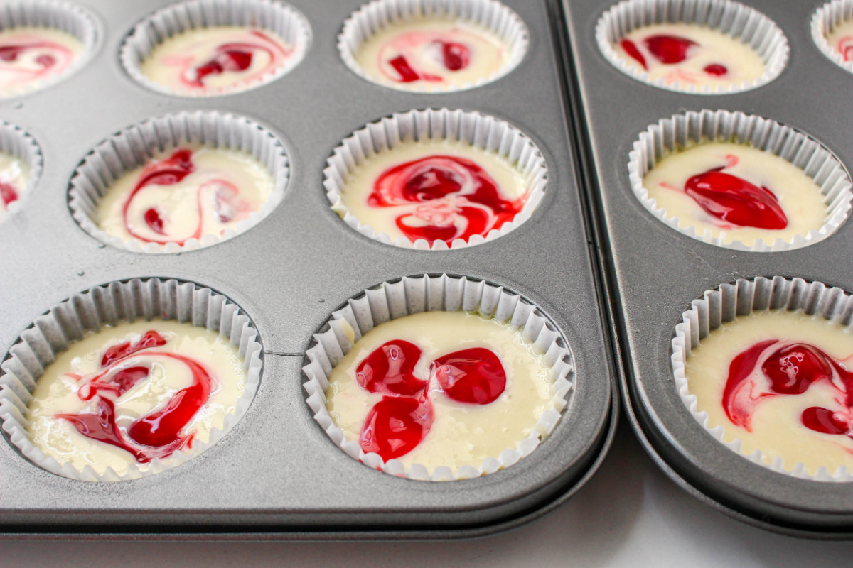
<instances>
[{"instance_id":1,"label":"marbled red swirl in cup directly behind the three-blob cup","mask_svg":"<svg viewBox=\"0 0 853 568\"><path fill-rule=\"evenodd\" d=\"M485 236L512 221L525 198L503 199L485 169L466 158L436 155L386 169L368 196L371 207L424 204L397 216L395 223L411 241Z\"/></svg>"}]
</instances>

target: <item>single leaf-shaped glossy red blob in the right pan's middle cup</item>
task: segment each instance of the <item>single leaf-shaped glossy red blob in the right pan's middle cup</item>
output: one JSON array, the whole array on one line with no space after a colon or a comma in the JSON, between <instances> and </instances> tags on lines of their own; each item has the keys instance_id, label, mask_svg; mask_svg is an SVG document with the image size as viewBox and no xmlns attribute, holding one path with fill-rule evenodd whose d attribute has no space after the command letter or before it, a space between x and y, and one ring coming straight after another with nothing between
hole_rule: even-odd
<instances>
[{"instance_id":1,"label":"single leaf-shaped glossy red blob in the right pan's middle cup","mask_svg":"<svg viewBox=\"0 0 853 568\"><path fill-rule=\"evenodd\" d=\"M684 185L686 192L708 215L740 227L784 229L785 212L776 196L766 187L757 187L737 175L720 169L693 175Z\"/></svg>"}]
</instances>

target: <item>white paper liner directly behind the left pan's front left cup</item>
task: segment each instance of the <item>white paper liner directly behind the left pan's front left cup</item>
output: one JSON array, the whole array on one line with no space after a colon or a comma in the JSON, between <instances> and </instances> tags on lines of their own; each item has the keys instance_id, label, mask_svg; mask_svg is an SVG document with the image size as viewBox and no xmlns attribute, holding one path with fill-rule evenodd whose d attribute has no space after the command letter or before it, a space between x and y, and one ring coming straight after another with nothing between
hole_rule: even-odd
<instances>
[{"instance_id":1,"label":"white paper liner directly behind the left pan's front left cup","mask_svg":"<svg viewBox=\"0 0 853 568\"><path fill-rule=\"evenodd\" d=\"M140 244L109 235L93 221L98 204L113 182L163 152L187 143L247 152L270 170L273 192L264 206L222 235L207 234L177 243ZM215 111L178 112L150 118L110 136L89 152L78 165L68 189L68 207L85 232L105 244L142 253L176 253L207 247L233 238L254 227L281 203L290 178L287 154L281 141L260 124L233 114Z\"/></svg>"}]
</instances>

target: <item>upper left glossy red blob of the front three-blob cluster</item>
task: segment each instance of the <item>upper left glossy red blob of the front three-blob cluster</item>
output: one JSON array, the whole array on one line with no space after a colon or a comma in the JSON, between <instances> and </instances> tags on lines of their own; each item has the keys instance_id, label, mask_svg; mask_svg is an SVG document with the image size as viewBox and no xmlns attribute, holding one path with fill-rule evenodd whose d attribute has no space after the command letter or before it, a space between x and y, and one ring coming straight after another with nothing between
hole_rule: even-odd
<instances>
[{"instance_id":1,"label":"upper left glossy red blob of the front three-blob cluster","mask_svg":"<svg viewBox=\"0 0 853 568\"><path fill-rule=\"evenodd\" d=\"M420 347L409 341L388 341L358 364L356 380L370 393L416 396L427 387L412 372L418 359Z\"/></svg>"}]
</instances>

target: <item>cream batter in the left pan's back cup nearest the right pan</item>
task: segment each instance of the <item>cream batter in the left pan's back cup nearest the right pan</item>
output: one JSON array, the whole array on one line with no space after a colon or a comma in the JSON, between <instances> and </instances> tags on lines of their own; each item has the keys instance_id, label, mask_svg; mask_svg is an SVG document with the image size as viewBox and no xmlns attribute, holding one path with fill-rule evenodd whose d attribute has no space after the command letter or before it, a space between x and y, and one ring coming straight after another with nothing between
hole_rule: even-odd
<instances>
[{"instance_id":1,"label":"cream batter in the left pan's back cup nearest the right pan","mask_svg":"<svg viewBox=\"0 0 853 568\"><path fill-rule=\"evenodd\" d=\"M467 66L457 70L445 66L441 42L465 46L469 52ZM389 64L401 55L420 78L403 82L400 72ZM413 91L444 90L461 88L501 71L508 63L509 47L485 26L432 16L389 24L365 40L355 59L376 83Z\"/></svg>"}]
</instances>

